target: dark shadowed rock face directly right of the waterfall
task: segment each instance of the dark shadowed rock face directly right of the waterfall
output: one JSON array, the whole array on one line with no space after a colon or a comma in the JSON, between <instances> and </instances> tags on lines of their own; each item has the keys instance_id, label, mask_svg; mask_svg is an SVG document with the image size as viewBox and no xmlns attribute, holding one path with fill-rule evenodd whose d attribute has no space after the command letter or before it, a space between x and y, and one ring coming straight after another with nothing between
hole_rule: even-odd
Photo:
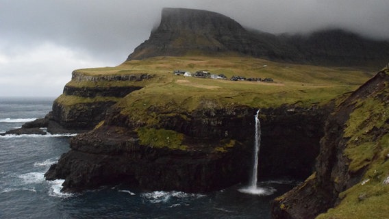
<instances>
[{"instance_id":1,"label":"dark shadowed rock face directly right of the waterfall","mask_svg":"<svg viewBox=\"0 0 389 219\"><path fill-rule=\"evenodd\" d=\"M331 107L285 105L261 111L259 176L305 179L313 170Z\"/></svg>"}]
</instances>

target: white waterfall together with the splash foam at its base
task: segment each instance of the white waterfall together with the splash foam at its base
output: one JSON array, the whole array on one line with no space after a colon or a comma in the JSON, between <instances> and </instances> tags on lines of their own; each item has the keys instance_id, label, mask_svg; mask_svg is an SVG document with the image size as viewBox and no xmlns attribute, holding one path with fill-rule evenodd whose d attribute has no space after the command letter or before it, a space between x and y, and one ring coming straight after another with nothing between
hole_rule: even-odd
<instances>
[{"instance_id":1,"label":"white waterfall together with the splash foam at its base","mask_svg":"<svg viewBox=\"0 0 389 219\"><path fill-rule=\"evenodd\" d=\"M254 136L254 153L253 153L253 170L251 172L251 179L249 185L245 188L241 188L239 191L248 194L257 195L270 195L275 192L274 188L258 188L258 162L260 156L261 147L261 122L260 122L260 110L255 114L255 136Z\"/></svg>"}]
</instances>

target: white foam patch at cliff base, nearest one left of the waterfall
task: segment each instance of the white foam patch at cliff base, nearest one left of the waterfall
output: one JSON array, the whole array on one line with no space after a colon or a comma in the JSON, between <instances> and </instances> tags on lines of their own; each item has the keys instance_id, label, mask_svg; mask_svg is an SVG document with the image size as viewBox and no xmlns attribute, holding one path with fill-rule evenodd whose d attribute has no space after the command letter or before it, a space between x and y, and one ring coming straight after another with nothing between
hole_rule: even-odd
<instances>
[{"instance_id":1,"label":"white foam patch at cliff base, nearest one left of the waterfall","mask_svg":"<svg viewBox=\"0 0 389 219\"><path fill-rule=\"evenodd\" d=\"M171 192L155 191L155 192L143 193L140 196L142 198L145 198L150 203L167 203L172 198L201 198L205 195L176 192L176 191L171 191Z\"/></svg>"}]
</instances>

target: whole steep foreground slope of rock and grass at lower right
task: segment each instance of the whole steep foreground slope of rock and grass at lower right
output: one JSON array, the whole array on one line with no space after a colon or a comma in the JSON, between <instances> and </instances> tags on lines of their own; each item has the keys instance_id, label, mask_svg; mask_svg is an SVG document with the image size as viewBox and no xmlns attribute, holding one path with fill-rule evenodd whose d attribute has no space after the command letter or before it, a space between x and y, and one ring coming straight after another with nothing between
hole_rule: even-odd
<instances>
[{"instance_id":1,"label":"whole steep foreground slope of rock and grass at lower right","mask_svg":"<svg viewBox=\"0 0 389 219\"><path fill-rule=\"evenodd\" d=\"M316 172L276 199L275 218L314 218L331 207L319 218L360 218L364 211L384 218L387 206L381 205L389 200L388 72L382 70L338 104L325 126Z\"/></svg>"}]
</instances>

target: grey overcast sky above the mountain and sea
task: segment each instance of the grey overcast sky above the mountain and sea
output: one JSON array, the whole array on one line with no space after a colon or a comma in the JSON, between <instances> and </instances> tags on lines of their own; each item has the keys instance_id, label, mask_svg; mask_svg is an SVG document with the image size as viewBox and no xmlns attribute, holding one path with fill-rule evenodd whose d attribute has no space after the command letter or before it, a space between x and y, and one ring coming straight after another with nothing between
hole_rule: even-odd
<instances>
[{"instance_id":1,"label":"grey overcast sky above the mountain and sea","mask_svg":"<svg viewBox=\"0 0 389 219\"><path fill-rule=\"evenodd\" d=\"M72 70L121 64L165 7L272 34L342 27L389 39L388 0L0 0L0 96L59 96Z\"/></svg>"}]
</instances>

